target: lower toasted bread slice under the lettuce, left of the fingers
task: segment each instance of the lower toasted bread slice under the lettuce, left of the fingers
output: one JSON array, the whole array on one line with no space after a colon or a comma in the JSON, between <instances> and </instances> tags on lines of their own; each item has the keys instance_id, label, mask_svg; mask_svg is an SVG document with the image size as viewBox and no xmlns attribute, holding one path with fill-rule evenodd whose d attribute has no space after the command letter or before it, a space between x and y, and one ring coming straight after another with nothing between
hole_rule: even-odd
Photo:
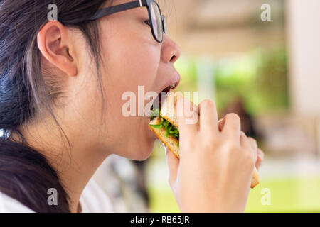
<instances>
[{"instance_id":1,"label":"lower toasted bread slice under the lettuce, left of the fingers","mask_svg":"<svg viewBox=\"0 0 320 227\"><path fill-rule=\"evenodd\" d=\"M159 140L161 140L161 142L164 143L166 148L168 148L172 153L174 153L176 157L180 158L178 139L174 138L172 135L168 135L168 137L166 137L166 129L164 128L153 128L151 126L151 125L158 125L160 122L161 122L161 118L159 116L156 116L150 121L149 128L151 129L151 131L154 132L156 137L158 137Z\"/></svg>"}]
</instances>

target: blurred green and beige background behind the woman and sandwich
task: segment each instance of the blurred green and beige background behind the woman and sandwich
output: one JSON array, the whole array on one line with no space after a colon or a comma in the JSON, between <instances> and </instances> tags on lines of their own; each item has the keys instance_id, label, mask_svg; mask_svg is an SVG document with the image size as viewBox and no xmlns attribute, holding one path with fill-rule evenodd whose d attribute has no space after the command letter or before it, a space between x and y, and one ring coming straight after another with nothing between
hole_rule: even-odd
<instances>
[{"instance_id":1,"label":"blurred green and beige background behind the woman and sandwich","mask_svg":"<svg viewBox=\"0 0 320 227\"><path fill-rule=\"evenodd\" d=\"M246 211L320 212L320 1L159 4L182 50L176 90L238 114L265 152ZM144 162L108 158L95 179L116 211L179 211L159 141Z\"/></svg>"}]
</instances>

